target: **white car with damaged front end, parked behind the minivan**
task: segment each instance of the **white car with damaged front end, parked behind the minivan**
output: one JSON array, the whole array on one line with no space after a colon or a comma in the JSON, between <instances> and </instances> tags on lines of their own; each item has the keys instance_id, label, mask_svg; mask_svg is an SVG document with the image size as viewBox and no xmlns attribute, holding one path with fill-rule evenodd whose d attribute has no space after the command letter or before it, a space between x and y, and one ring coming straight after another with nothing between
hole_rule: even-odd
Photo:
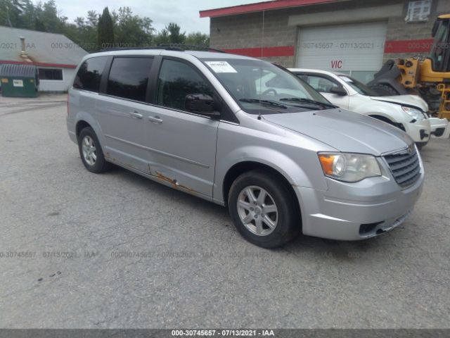
<instances>
[{"instance_id":1,"label":"white car with damaged front end, parked behind the minivan","mask_svg":"<svg viewBox=\"0 0 450 338\"><path fill-rule=\"evenodd\" d=\"M431 134L444 134L449 121L429 118L428 104L417 95L379 96L349 75L290 68L331 103L363 115L368 115L404 130L416 144L425 146Z\"/></svg>"}]
</instances>

